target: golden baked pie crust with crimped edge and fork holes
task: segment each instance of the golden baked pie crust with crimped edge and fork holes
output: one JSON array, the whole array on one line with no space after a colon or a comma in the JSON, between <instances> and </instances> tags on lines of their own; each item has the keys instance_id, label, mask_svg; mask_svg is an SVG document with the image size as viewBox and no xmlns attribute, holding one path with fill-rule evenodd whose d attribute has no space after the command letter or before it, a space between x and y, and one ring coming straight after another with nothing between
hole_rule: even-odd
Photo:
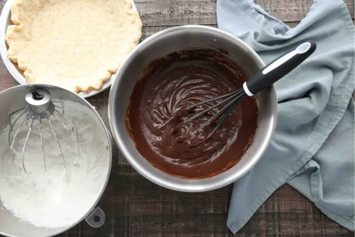
<instances>
[{"instance_id":1,"label":"golden baked pie crust with crimped edge and fork holes","mask_svg":"<svg viewBox=\"0 0 355 237\"><path fill-rule=\"evenodd\" d=\"M5 40L27 83L100 89L138 44L130 0L15 0Z\"/></svg>"}]
</instances>

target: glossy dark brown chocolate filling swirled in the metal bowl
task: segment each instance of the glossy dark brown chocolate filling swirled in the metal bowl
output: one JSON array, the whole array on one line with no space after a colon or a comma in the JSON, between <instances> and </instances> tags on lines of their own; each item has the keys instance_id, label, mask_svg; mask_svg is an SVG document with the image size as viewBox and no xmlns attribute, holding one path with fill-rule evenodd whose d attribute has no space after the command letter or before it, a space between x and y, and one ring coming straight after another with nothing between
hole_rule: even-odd
<instances>
[{"instance_id":1,"label":"glossy dark brown chocolate filling swirled in the metal bowl","mask_svg":"<svg viewBox=\"0 0 355 237\"><path fill-rule=\"evenodd\" d=\"M253 142L258 119L254 96L244 97L210 137L215 123L193 132L222 107L184 123L218 101L185 108L238 90L248 79L222 52L171 53L152 61L135 84L126 128L140 154L169 175L188 179L218 175L237 163Z\"/></svg>"}]
</instances>

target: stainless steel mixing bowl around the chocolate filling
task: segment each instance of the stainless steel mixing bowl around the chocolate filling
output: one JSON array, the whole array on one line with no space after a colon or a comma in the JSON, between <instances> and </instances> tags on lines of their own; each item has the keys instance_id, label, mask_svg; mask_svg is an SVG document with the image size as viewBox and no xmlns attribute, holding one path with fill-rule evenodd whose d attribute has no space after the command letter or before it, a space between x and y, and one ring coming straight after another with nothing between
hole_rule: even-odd
<instances>
[{"instance_id":1,"label":"stainless steel mixing bowl around the chocolate filling","mask_svg":"<svg viewBox=\"0 0 355 237\"><path fill-rule=\"evenodd\" d=\"M258 162L271 140L277 116L277 100L273 86L257 94L258 129L255 139L238 163L217 176L206 179L184 179L168 175L155 168L135 148L125 127L125 112L136 80L153 59L186 48L225 49L228 57L254 75L265 66L255 51L240 39L223 30L200 25L168 28L141 42L120 66L111 86L109 119L113 137L135 170L163 187L199 192L228 185L245 175Z\"/></svg>"}]
</instances>

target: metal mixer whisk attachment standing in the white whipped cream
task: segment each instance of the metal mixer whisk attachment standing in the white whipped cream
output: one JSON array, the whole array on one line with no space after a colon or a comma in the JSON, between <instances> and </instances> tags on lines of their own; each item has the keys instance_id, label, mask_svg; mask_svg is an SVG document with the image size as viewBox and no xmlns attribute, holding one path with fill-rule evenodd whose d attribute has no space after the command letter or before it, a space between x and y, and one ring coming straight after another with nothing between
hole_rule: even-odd
<instances>
[{"instance_id":1,"label":"metal mixer whisk attachment standing in the white whipped cream","mask_svg":"<svg viewBox=\"0 0 355 237\"><path fill-rule=\"evenodd\" d=\"M58 144L58 148L61 154L60 157L63 161L63 166L65 168L65 159L63 155L63 150L58 140L56 130L54 129L53 122L56 121L61 123L61 125L72 135L74 140L77 142L78 156L79 156L79 141L78 141L78 132L72 122L72 119L64 114L63 100L52 98L50 92L43 88L35 88L25 94L25 102L26 102L25 107L9 115L9 124L10 124L9 145L10 145L13 159L15 160L14 144L17 142L19 131L21 127L24 126L25 121L29 122L30 123L29 129L27 131L26 139L24 141L21 150L22 166L24 172L26 172L24 153L26 150L26 146L29 140L31 130L34 126L34 121L38 120L38 124L40 127L40 138L42 142L42 157L43 157L45 170L47 171L46 158L45 158L45 146L44 146L44 134L43 134L43 126L42 126L43 121L46 120L50 126L50 130L54 136L54 139ZM65 125L65 123L63 122L64 120L66 123L69 124L69 126ZM15 124L18 125L18 123L19 126L15 130L14 126ZM13 138L11 138L12 134L13 134Z\"/></svg>"}]
</instances>

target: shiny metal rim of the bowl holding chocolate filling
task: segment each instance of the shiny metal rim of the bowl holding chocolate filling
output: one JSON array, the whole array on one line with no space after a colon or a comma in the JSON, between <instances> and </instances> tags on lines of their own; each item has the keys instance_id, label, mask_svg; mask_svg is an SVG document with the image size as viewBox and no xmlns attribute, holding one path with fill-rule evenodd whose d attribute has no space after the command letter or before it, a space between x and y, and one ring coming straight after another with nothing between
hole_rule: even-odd
<instances>
[{"instance_id":1,"label":"shiny metal rim of the bowl holding chocolate filling","mask_svg":"<svg viewBox=\"0 0 355 237\"><path fill-rule=\"evenodd\" d=\"M228 179L224 180L224 182L219 182L219 185L216 185L215 183L209 183L209 184L176 184L173 182L167 182L162 180L160 177L156 177L154 175L151 174L151 172L149 172L144 166L140 165L138 162L136 162L134 157L131 157L127 147L125 146L124 141L121 140L120 138L120 133L119 129L118 129L118 125L115 122L115 106L116 106L116 101L115 101L115 97L117 96L117 84L119 83L120 80L124 80L124 78L121 77L121 74L124 73L124 71L126 70L126 67L128 67L131 63L131 59L136 55L139 54L139 50L141 48L144 47L145 44L149 43L150 41L153 41L156 38L160 38L160 37L164 37L164 35L166 33L172 32L172 31L177 31L177 30L184 30L184 29L205 29L208 31L215 31L217 33L220 33L232 40L234 40L236 42L236 44L240 44L242 47L244 47L245 49L248 50L248 53L251 54L251 56L256 60L257 63L259 63L259 65L261 67L265 66L265 63L263 62L263 60L260 58L260 56L250 47L248 46L244 41L242 41L241 39L237 38L236 36L232 35L231 33L215 28L215 27L211 27L211 26L204 26L204 25L182 25L182 26L174 26L174 27L170 27L164 30L161 30L157 33L155 33L154 35L148 37L147 39L145 39L144 41L142 41L140 44L137 45L137 47L135 47L131 53L128 55L128 57L126 58L126 60L122 63L122 65L120 66L120 69L118 70L117 74L116 74L116 78L113 82L113 84L111 85L110 88L110 94L109 94L109 106L108 106L108 117L109 117L109 123L110 123L110 128L111 128L111 132L113 134L114 140L118 146L118 148L120 149L120 151L122 152L123 156L125 157L125 159L127 160L127 162L135 169L135 171L137 171L140 175L144 176L146 179L150 180L151 182L158 184L162 187L168 188L168 189L172 189L175 191L183 191L183 192L204 192L204 191L210 191L210 190L215 190L221 187L224 187L226 185L229 185L231 183L233 183L234 181L236 181L237 179L239 179L240 177L244 176L247 172L249 172L255 165L256 163L260 160L260 158L262 157L262 154L266 151L269 143L271 142L271 137L272 134L275 130L275 126L276 126L276 119L277 119L277 99L276 99L276 93L275 93L275 89L274 86L271 85L270 86L270 97L271 97L271 101L273 101L273 105L272 108L274 109L273 112L273 117L272 117L272 121L271 121L271 126L268 127L268 134L267 136L264 138L264 141L266 141L265 146L263 146L260 150L261 152L259 152L260 155L258 155L256 158L252 159L250 162L248 162L241 171L231 175ZM153 165L152 165L153 166ZM222 173L223 174L223 173ZM221 175L221 174L219 174ZM219 176L217 175L217 176ZM186 180L184 178L177 178L176 179L179 180ZM210 178L206 178L203 180L207 180ZM195 179L192 179L192 181L194 181ZM198 180L198 179L196 179ZM201 180L201 179L200 179Z\"/></svg>"}]
</instances>

